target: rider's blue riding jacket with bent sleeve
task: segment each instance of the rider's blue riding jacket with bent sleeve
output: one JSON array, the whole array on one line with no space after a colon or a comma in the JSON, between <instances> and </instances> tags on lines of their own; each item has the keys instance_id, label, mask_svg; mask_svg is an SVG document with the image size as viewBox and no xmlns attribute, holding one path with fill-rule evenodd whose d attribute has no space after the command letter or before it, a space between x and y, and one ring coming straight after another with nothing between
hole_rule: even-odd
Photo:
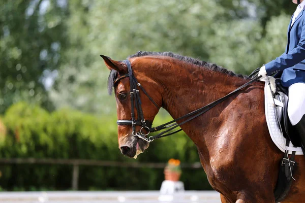
<instances>
[{"instance_id":1,"label":"rider's blue riding jacket with bent sleeve","mask_svg":"<svg viewBox=\"0 0 305 203\"><path fill-rule=\"evenodd\" d=\"M267 75L281 77L282 85L305 83L305 10L302 10L291 26L288 25L285 53L265 64Z\"/></svg>"}]
</instances>

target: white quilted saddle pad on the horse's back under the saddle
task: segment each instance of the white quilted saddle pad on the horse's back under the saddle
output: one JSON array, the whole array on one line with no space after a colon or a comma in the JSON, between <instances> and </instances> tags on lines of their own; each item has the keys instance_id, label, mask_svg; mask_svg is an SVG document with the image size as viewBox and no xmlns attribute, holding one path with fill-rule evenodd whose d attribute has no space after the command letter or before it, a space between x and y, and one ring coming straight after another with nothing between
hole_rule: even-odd
<instances>
[{"instance_id":1,"label":"white quilted saddle pad on the horse's back under the saddle","mask_svg":"<svg viewBox=\"0 0 305 203\"><path fill-rule=\"evenodd\" d=\"M276 100L276 104L281 106L283 103L281 101ZM283 105L284 106L284 105ZM285 152L285 149L289 150L288 153L291 154L292 151L296 151L296 155L303 154L302 149L300 147L293 147L292 143L290 142L289 147L286 147L286 139L284 138L281 128L277 121L276 115L276 106L272 99L272 94L268 82L265 83L265 114L266 114L266 121L270 133L270 137L273 143L282 151ZM283 129L285 130L285 129Z\"/></svg>"}]
</instances>

